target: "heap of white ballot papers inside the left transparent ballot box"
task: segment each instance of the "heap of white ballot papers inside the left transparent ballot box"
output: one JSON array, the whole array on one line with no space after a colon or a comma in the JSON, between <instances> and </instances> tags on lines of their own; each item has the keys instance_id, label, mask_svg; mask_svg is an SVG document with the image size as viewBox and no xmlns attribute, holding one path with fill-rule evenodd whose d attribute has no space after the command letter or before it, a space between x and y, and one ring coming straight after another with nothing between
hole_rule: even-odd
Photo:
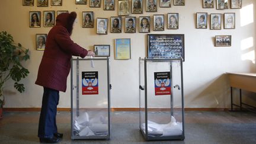
<instances>
[{"instance_id":1,"label":"heap of white ballot papers inside the left transparent ballot box","mask_svg":"<svg viewBox=\"0 0 256 144\"><path fill-rule=\"evenodd\" d=\"M89 117L87 112L75 118L74 130L79 136L105 136L108 133L108 124L104 116Z\"/></svg>"}]
</instances>

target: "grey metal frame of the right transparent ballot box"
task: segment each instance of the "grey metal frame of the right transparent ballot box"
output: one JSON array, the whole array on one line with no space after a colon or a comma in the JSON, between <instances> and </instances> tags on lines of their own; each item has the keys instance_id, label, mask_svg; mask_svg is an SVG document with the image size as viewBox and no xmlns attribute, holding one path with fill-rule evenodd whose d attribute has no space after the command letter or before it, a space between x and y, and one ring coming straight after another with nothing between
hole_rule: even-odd
<instances>
[{"instance_id":1,"label":"grey metal frame of the right transparent ballot box","mask_svg":"<svg viewBox=\"0 0 256 144\"><path fill-rule=\"evenodd\" d=\"M144 61L144 81L145 81L145 86L143 87L140 82L140 74L141 74L141 66L140 66L140 62ZM147 62L171 62L174 60L178 60L180 61L180 68L181 68L181 114L182 114L182 126L183 126L183 132L182 135L180 136L164 136L164 137L152 137L148 135L148 88L147 88ZM172 77L172 65L170 65L170 74ZM170 95L170 100L171 100L171 116L173 116L173 96L172 95L172 88L175 88L175 86L172 85L171 83L171 95ZM184 140L185 139L185 133L184 133L184 91L183 91L183 59L148 59L147 57L145 57L144 59L142 59L141 57L139 57L139 91L145 91L145 95L140 95L139 92L139 128L140 128L140 132L142 133L142 135L145 137L146 140L150 141L150 140ZM141 114L140 112L141 110L141 97L145 97L145 133L143 132L143 129L141 128L142 123L141 123Z\"/></svg>"}]
</instances>

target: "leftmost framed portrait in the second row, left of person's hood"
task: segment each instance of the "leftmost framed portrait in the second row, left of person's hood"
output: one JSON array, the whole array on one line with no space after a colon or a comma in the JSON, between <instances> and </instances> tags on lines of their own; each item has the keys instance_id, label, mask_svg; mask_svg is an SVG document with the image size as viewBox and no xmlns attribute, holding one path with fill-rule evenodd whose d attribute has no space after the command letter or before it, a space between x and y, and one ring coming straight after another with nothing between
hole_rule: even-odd
<instances>
[{"instance_id":1,"label":"leftmost framed portrait in the second row, left of person's hood","mask_svg":"<svg viewBox=\"0 0 256 144\"><path fill-rule=\"evenodd\" d=\"M41 27L41 12L40 11L30 11L30 27Z\"/></svg>"}]
</instances>

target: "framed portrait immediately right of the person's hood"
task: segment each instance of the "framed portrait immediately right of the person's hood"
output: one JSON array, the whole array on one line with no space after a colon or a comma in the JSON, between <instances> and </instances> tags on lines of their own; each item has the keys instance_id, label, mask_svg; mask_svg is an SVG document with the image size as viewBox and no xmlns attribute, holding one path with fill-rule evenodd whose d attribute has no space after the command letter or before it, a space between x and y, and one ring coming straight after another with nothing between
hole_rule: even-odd
<instances>
[{"instance_id":1,"label":"framed portrait immediately right of the person's hood","mask_svg":"<svg viewBox=\"0 0 256 144\"><path fill-rule=\"evenodd\" d=\"M94 27L94 12L83 11L82 12L82 27L93 28Z\"/></svg>"}]
</instances>

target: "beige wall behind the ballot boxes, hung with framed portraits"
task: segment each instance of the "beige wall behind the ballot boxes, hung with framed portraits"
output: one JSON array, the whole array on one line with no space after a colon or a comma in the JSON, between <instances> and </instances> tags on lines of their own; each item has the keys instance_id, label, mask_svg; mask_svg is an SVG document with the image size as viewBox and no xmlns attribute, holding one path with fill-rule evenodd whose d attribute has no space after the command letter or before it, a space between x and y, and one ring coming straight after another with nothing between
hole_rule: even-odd
<instances>
[{"instance_id":1,"label":"beige wall behind the ballot boxes, hung with framed portraits","mask_svg":"<svg viewBox=\"0 0 256 144\"><path fill-rule=\"evenodd\" d=\"M216 2L216 1L215 1ZM131 2L130 2L131 3ZM159 1L158 1L159 4ZM116 4L117 6L117 4ZM201 0L187 0L185 6L159 8L158 12L145 12L165 14L178 12L180 14L180 28L178 30L165 30L163 34L185 34L185 62L184 62L184 94L185 107L229 107L229 85L225 72L256 72L255 68L255 7L256 1L244 0L243 9L217 10L202 8ZM63 0L62 7L24 7L21 0L0 1L0 31L8 31L17 43L30 49L31 59L24 65L29 69L30 75L23 82L26 91L18 93L7 84L5 91L5 107L40 107L43 89L34 84L37 70L43 51L35 49L36 34L48 33L50 28L29 28L29 11L68 10L78 13L78 24L73 30L72 39L87 49L94 44L111 45L111 105L112 107L139 107L138 91L138 59L146 55L146 34L95 34L95 28L82 28L82 11L94 11L94 18L110 18L117 16L116 11L103 11L103 8L89 8L88 5L75 5L75 0ZM236 28L234 30L196 29L196 12L220 13L235 12ZM43 15L43 14L41 14ZM137 18L140 14L132 15ZM123 18L124 20L124 18ZM215 47L216 35L232 35L231 47ZM132 59L114 60L114 39L130 38L132 40ZM251 60L249 60L251 59ZM254 63L253 63L254 62ZM66 93L60 93L59 107L70 107L70 79Z\"/></svg>"}]
</instances>

